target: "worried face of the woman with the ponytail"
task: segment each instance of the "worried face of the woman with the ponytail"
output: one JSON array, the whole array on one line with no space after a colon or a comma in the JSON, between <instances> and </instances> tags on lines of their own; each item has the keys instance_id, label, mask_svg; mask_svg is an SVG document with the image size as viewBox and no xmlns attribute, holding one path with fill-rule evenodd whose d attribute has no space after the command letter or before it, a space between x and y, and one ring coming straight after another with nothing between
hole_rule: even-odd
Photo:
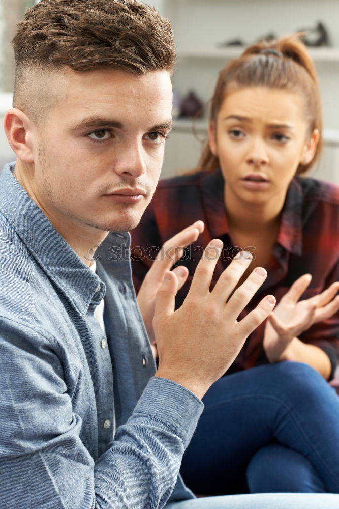
<instances>
[{"instance_id":1,"label":"worried face of the woman with the ponytail","mask_svg":"<svg viewBox=\"0 0 339 509\"><path fill-rule=\"evenodd\" d=\"M265 204L284 198L299 163L313 159L319 133L311 136L297 93L249 87L229 93L209 128L228 193Z\"/></svg>"}]
</instances>

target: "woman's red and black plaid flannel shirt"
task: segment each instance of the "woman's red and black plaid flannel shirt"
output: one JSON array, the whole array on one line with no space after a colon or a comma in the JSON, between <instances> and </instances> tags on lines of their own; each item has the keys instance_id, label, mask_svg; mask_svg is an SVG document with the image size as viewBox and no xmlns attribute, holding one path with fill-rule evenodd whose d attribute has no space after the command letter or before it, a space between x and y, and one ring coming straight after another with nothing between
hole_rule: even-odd
<instances>
[{"instance_id":1,"label":"woman's red and black plaid flannel shirt","mask_svg":"<svg viewBox=\"0 0 339 509\"><path fill-rule=\"evenodd\" d=\"M201 252L213 238L224 242L224 251L214 271L211 288L229 265L237 250L229 235L224 205L224 180L220 170L199 172L159 182L153 199L139 226L132 231L132 267L136 291L157 256L159 248L183 228L201 219L205 230L186 249L179 262L189 269L189 278L178 292L178 307L186 296ZM339 186L314 179L292 180L282 211L280 231L265 267L268 276L240 319L264 295L273 294L279 302L302 274L313 278L303 298L322 292L339 280ZM264 324L246 340L228 373L267 362L262 348ZM300 340L322 348L329 356L332 374L339 354L339 313L313 325Z\"/></svg>"}]
</instances>

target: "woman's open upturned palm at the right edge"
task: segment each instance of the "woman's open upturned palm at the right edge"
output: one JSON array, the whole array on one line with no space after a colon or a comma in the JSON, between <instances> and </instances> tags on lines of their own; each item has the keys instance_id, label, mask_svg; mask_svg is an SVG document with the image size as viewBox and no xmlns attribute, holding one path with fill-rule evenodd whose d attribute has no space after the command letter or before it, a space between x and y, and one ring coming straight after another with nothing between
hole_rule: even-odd
<instances>
[{"instance_id":1,"label":"woman's open upturned palm at the right edge","mask_svg":"<svg viewBox=\"0 0 339 509\"><path fill-rule=\"evenodd\" d=\"M311 274L299 277L275 306L274 313L268 317L263 346L270 362L283 360L284 353L294 338L339 310L339 296L335 297L339 282L334 282L319 295L299 300L311 279Z\"/></svg>"}]
</instances>

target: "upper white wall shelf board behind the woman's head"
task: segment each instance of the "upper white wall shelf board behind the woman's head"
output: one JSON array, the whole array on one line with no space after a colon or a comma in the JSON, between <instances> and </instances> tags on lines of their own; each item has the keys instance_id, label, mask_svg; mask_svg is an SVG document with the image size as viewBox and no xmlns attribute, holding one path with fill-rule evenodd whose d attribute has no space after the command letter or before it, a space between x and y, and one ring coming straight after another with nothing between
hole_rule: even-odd
<instances>
[{"instance_id":1,"label":"upper white wall shelf board behind the woman's head","mask_svg":"<svg viewBox=\"0 0 339 509\"><path fill-rule=\"evenodd\" d=\"M231 46L220 49L178 50L178 59L233 59L239 56L245 46ZM309 48L310 55L315 62L339 62L339 48Z\"/></svg>"}]
</instances>

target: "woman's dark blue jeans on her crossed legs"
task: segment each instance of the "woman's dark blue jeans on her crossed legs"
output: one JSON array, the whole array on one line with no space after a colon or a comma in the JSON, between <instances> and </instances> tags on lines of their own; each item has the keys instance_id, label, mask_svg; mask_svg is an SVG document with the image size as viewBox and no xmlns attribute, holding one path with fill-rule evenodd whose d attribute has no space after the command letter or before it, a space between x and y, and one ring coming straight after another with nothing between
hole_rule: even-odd
<instances>
[{"instance_id":1,"label":"woman's dark blue jeans on her crossed legs","mask_svg":"<svg viewBox=\"0 0 339 509\"><path fill-rule=\"evenodd\" d=\"M203 401L181 465L195 493L339 493L339 398L311 367L227 375Z\"/></svg>"}]
</instances>

